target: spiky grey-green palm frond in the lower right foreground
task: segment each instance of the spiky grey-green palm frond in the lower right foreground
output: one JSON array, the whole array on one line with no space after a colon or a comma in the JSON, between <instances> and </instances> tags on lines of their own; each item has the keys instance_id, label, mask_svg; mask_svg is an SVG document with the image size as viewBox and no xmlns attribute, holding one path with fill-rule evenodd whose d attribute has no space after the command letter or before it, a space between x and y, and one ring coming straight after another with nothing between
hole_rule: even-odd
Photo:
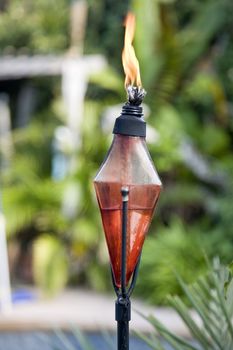
<instances>
[{"instance_id":1,"label":"spiky grey-green palm frond in the lower right foreground","mask_svg":"<svg viewBox=\"0 0 233 350\"><path fill-rule=\"evenodd\" d=\"M163 349L161 338L175 350L230 350L233 346L233 278L231 269L215 259L206 276L187 285L177 275L179 284L191 308L198 315L194 318L189 308L178 296L169 296L170 305L186 324L195 345L169 331L154 316L145 317L154 327L155 342L147 341L152 349ZM138 334L146 340L142 334Z\"/></svg>"}]
</instances>

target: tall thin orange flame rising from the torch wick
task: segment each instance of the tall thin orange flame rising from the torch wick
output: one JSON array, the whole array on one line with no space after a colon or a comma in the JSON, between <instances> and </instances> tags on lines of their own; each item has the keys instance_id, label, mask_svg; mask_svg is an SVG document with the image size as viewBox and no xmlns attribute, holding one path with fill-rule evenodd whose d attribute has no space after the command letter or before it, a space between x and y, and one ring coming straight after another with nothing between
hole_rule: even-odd
<instances>
[{"instance_id":1,"label":"tall thin orange flame rising from the torch wick","mask_svg":"<svg viewBox=\"0 0 233 350\"><path fill-rule=\"evenodd\" d=\"M132 42L135 33L135 15L129 12L125 19L125 44L122 51L122 63L125 72L125 87L136 85L141 87L141 76L138 59L136 57Z\"/></svg>"}]
</instances>

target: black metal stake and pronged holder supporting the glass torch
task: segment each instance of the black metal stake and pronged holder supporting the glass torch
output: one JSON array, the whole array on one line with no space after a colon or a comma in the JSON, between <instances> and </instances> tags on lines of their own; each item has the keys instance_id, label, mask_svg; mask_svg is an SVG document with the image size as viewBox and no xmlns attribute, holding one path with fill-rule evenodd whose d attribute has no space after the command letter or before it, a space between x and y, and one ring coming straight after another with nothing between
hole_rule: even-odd
<instances>
[{"instance_id":1,"label":"black metal stake and pronged holder supporting the glass torch","mask_svg":"<svg viewBox=\"0 0 233 350\"><path fill-rule=\"evenodd\" d=\"M117 321L117 349L129 350L129 321L131 319L130 295L134 289L140 258L133 273L130 287L126 289L126 264L127 264L127 219L129 189L122 187L122 250L121 250L121 289L116 286L113 272L112 282L117 295L116 300L116 321Z\"/></svg>"}]
</instances>

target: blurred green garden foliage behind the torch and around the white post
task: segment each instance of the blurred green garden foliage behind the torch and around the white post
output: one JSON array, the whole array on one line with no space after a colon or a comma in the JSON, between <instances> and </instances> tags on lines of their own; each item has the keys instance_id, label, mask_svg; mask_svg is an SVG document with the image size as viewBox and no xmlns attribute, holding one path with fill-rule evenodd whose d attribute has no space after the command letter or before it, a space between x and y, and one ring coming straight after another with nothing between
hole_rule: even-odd
<instances>
[{"instance_id":1,"label":"blurred green garden foliage behind the torch and around the white post","mask_svg":"<svg viewBox=\"0 0 233 350\"><path fill-rule=\"evenodd\" d=\"M88 3L85 50L102 52L111 67L90 79L76 171L60 182L50 176L53 130L65 118L54 81L46 105L26 128L13 132L14 153L2 174L3 202L10 239L34 242L35 251L45 244L50 258L61 254L69 283L104 290L110 286L108 256L92 179L110 144L101 116L125 98L120 56L122 21L130 4ZM149 148L164 185L135 291L163 303L167 293L182 294L174 270L188 282L205 270L203 251L232 260L233 3L132 0L131 8L148 92L148 124L158 132ZM0 14L2 54L65 52L68 33L67 0L13 0ZM70 188L78 196L74 217L63 211ZM29 237L24 235L28 230ZM41 267L35 262L40 271L35 278L53 291L46 283L48 271L54 271L49 266L49 258Z\"/></svg>"}]
</instances>

